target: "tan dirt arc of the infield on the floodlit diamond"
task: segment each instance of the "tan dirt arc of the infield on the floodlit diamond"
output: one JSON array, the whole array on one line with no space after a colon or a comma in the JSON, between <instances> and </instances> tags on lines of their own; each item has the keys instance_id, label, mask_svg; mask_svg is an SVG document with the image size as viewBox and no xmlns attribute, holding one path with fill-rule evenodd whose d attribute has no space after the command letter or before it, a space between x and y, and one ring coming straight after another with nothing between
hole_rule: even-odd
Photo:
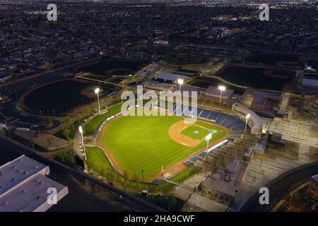
<instances>
[{"instance_id":1,"label":"tan dirt arc of the infield on the floodlit diamond","mask_svg":"<svg viewBox=\"0 0 318 226\"><path fill-rule=\"evenodd\" d=\"M170 138L172 138L173 141L180 143L182 145L185 145L191 148L196 147L197 145L199 145L199 143L201 143L201 141L193 139L193 138L189 138L189 136L184 136L183 134L181 134L181 131L183 129L191 125L192 124L185 124L184 121L179 121L176 124L173 124L172 126L170 126L170 129L169 129Z\"/></svg>"}]
</instances>

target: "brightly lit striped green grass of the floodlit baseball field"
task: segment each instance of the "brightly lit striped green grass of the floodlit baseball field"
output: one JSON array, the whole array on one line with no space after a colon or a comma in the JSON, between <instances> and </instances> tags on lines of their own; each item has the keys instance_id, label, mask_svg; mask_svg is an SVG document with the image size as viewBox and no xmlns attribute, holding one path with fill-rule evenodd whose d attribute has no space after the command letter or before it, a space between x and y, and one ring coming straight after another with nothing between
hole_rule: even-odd
<instances>
[{"instance_id":1,"label":"brightly lit striped green grass of the floodlit baseball field","mask_svg":"<svg viewBox=\"0 0 318 226\"><path fill-rule=\"evenodd\" d=\"M102 141L98 144L110 150L120 167L130 176L140 175L143 169L144 179L151 179L160 173L162 166L168 167L205 147L205 141L191 148L170 138L170 126L182 120L182 117L176 116L119 117L107 124ZM219 131L214 133L211 143L225 136L225 131L220 127L202 121L192 126L196 130L203 126L205 129L201 131L205 135L209 133L208 129Z\"/></svg>"}]
</instances>

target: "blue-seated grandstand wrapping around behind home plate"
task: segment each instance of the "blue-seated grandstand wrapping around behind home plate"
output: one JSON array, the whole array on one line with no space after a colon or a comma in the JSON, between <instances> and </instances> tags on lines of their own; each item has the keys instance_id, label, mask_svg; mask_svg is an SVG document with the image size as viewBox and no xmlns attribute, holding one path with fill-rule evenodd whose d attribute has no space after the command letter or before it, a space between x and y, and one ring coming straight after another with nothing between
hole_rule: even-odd
<instances>
[{"instance_id":1,"label":"blue-seated grandstand wrapping around behind home plate","mask_svg":"<svg viewBox=\"0 0 318 226\"><path fill-rule=\"evenodd\" d=\"M203 109L200 107L189 107L187 105L174 104L173 107L167 107L172 114L181 113L184 117L192 117L194 111L197 111L198 119L206 121L213 121L215 124L225 126L230 130L230 137L225 141L219 143L211 148L203 150L201 153L190 157L184 161L184 165L194 166L203 169L206 162L209 162L210 167L224 167L229 164L234 157L242 157L245 150L247 150L257 138L251 136L251 128L247 125L246 137L243 139L245 131L245 119L233 114L225 112L213 111L210 109ZM187 110L189 109L189 110ZM248 147L249 146L249 147ZM208 155L208 157L206 157Z\"/></svg>"}]
</instances>

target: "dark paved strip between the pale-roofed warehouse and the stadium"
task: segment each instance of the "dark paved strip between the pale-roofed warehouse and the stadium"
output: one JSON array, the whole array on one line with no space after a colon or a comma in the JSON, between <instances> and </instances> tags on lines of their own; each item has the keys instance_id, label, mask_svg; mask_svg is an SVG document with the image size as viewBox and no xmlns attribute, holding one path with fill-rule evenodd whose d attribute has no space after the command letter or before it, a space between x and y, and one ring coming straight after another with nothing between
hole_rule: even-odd
<instances>
[{"instance_id":1,"label":"dark paved strip between the pale-roofed warehouse and the stadium","mask_svg":"<svg viewBox=\"0 0 318 226\"><path fill-rule=\"evenodd\" d=\"M37 155L18 143L8 142L4 138L0 138L0 165L21 154L49 165L49 177L69 187L69 194L49 211L165 211L87 174Z\"/></svg>"}]
</instances>

